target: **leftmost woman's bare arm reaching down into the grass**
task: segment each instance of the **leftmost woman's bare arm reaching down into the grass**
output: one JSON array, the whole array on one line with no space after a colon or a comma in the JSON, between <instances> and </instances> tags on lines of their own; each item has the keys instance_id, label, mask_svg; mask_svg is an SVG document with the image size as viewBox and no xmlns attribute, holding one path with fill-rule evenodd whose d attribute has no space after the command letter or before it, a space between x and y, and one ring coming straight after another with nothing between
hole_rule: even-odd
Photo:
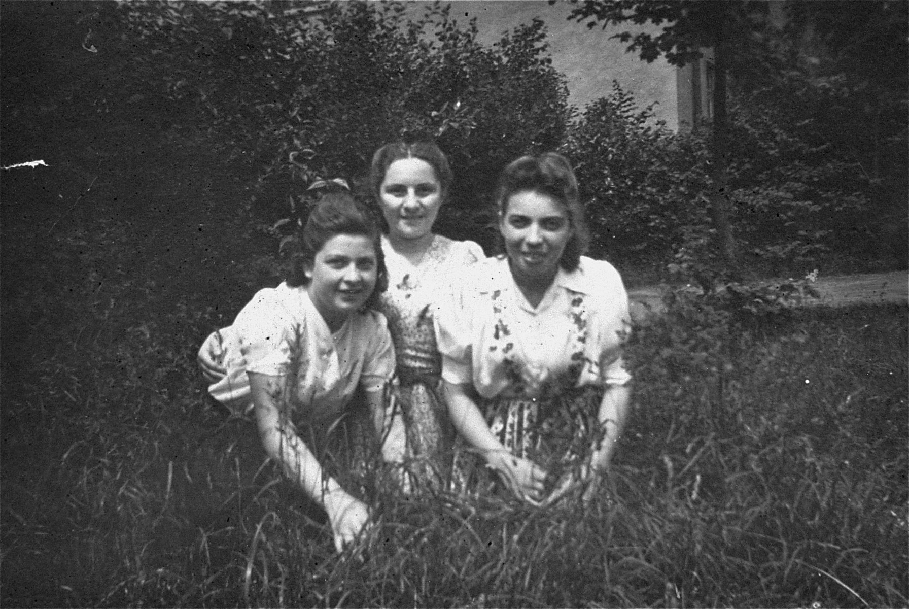
<instances>
[{"instance_id":1,"label":"leftmost woman's bare arm reaching down into the grass","mask_svg":"<svg viewBox=\"0 0 909 609\"><path fill-rule=\"evenodd\" d=\"M322 465L281 414L278 404L287 397L286 377L249 373L249 384L265 453L283 466L305 494L325 507L340 552L363 530L369 520L368 508L335 479L325 477Z\"/></svg>"}]
</instances>

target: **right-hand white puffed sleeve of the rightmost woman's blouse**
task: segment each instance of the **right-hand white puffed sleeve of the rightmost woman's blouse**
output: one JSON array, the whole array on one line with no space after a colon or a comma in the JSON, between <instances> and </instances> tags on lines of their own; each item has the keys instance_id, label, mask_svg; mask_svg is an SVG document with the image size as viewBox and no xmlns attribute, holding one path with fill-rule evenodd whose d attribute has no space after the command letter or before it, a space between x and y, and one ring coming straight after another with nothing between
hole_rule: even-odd
<instances>
[{"instance_id":1,"label":"right-hand white puffed sleeve of the rightmost woman's blouse","mask_svg":"<svg viewBox=\"0 0 909 609\"><path fill-rule=\"evenodd\" d=\"M590 263L590 275L600 278L594 330L596 361L600 364L598 380L602 384L627 384L631 374L625 368L623 347L631 333L631 314L622 275L605 261L588 259L586 262Z\"/></svg>"}]
</instances>

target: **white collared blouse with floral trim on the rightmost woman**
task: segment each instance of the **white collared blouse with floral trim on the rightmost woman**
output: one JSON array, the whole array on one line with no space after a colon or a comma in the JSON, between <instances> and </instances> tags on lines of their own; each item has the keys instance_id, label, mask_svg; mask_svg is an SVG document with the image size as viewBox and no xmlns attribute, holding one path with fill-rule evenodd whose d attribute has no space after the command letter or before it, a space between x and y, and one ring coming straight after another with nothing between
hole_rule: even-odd
<instances>
[{"instance_id":1,"label":"white collared blouse with floral trim on the rightmost woman","mask_svg":"<svg viewBox=\"0 0 909 609\"><path fill-rule=\"evenodd\" d=\"M631 380L621 349L631 328L628 296L605 261L582 256L573 272L560 268L535 309L504 256L465 269L451 293L435 312L442 377L450 383L473 384L484 398L534 397L578 362L578 386Z\"/></svg>"}]
</instances>

